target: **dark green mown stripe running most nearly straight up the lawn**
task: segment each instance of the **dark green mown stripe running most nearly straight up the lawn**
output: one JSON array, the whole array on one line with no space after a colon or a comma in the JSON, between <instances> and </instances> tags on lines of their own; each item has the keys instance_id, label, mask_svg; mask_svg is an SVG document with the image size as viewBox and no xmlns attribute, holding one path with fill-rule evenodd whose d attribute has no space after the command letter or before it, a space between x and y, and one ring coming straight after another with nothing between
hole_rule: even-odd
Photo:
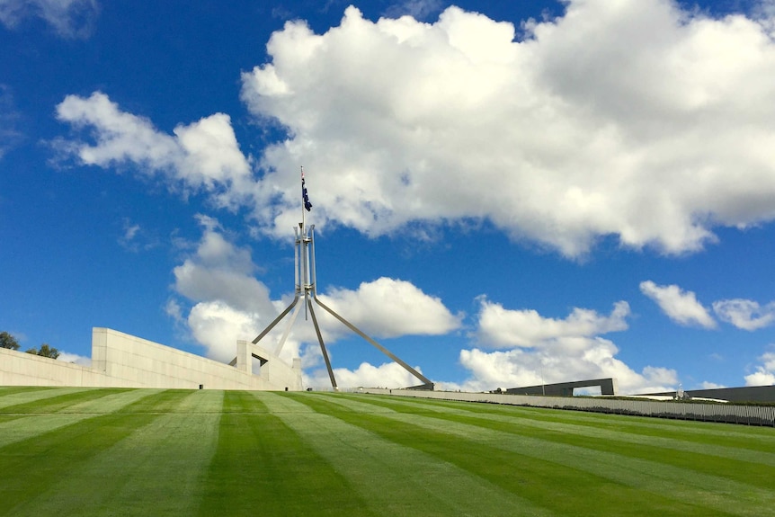
<instances>
[{"instance_id":1,"label":"dark green mown stripe running most nearly straight up the lawn","mask_svg":"<svg viewBox=\"0 0 775 517\"><path fill-rule=\"evenodd\" d=\"M363 515L345 479L250 392L228 391L200 516Z\"/></svg>"}]
</instances>

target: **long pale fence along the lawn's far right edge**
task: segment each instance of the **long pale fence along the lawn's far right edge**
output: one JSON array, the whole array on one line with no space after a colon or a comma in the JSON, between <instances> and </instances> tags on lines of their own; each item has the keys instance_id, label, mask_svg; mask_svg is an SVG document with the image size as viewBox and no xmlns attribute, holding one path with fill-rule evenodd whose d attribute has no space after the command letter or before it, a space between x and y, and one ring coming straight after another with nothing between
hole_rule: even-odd
<instances>
[{"instance_id":1,"label":"long pale fence along the lawn's far right edge","mask_svg":"<svg viewBox=\"0 0 775 517\"><path fill-rule=\"evenodd\" d=\"M458 391L416 391L414 389L361 388L360 393L393 395L396 397L435 398L461 402L487 402L512 406L535 406L571 409L595 413L635 414L655 418L697 420L701 422L739 423L775 427L775 406L737 406L602 397L542 397L496 393L466 393Z\"/></svg>"}]
</instances>

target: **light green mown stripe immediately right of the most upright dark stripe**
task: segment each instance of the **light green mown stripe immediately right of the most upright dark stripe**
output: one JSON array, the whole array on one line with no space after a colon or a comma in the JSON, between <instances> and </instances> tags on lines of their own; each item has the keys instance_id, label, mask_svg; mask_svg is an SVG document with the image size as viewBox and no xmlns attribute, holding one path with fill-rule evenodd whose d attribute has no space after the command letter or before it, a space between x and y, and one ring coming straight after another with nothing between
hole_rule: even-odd
<instances>
[{"instance_id":1,"label":"light green mown stripe immediately right of the most upright dark stripe","mask_svg":"<svg viewBox=\"0 0 775 517\"><path fill-rule=\"evenodd\" d=\"M345 422L304 394L256 394L382 515L553 515L465 468Z\"/></svg>"}]
</instances>

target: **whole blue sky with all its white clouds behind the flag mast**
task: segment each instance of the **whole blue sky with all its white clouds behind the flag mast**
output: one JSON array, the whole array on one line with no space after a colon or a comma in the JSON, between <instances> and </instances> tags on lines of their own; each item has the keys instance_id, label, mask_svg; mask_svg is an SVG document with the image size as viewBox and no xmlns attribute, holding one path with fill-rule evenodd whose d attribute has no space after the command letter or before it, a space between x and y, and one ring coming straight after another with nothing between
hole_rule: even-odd
<instances>
[{"instance_id":1,"label":"whole blue sky with all its white clouds behind the flag mast","mask_svg":"<svg viewBox=\"0 0 775 517\"><path fill-rule=\"evenodd\" d=\"M303 165L321 298L440 388L773 384L773 41L771 1L0 0L0 330L229 361ZM340 386L415 383L320 318ZM282 353L326 384L310 321Z\"/></svg>"}]
</instances>

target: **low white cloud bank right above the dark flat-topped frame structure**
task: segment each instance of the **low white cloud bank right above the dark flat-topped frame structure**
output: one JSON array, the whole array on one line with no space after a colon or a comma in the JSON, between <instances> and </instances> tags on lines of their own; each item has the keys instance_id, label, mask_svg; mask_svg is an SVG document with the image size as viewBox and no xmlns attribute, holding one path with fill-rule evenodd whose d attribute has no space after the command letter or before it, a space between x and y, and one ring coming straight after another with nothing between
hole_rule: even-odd
<instances>
[{"instance_id":1,"label":"low white cloud bank right above the dark flat-topped frame structure","mask_svg":"<svg viewBox=\"0 0 775 517\"><path fill-rule=\"evenodd\" d=\"M647 366L641 373L615 356L617 346L600 334L628 328L627 302L614 304L610 315L575 308L564 319L534 310L512 310L480 299L477 340L487 347L460 351L460 364L471 378L459 386L467 391L516 388L542 383L614 377L622 393L665 390L677 382L676 372Z\"/></svg>"}]
</instances>

